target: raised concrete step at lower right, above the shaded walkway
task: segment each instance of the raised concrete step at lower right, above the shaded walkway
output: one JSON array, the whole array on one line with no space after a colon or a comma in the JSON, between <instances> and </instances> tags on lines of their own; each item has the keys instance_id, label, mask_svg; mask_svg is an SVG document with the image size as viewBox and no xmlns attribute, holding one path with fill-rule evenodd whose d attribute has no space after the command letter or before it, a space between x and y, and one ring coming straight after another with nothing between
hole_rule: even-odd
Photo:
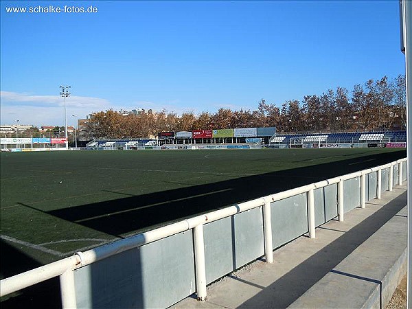
<instances>
[{"instance_id":1,"label":"raised concrete step at lower right, above the shaded walkway","mask_svg":"<svg viewBox=\"0 0 412 309\"><path fill-rule=\"evenodd\" d=\"M288 308L385 308L407 272L407 207Z\"/></svg>"}]
</instances>

